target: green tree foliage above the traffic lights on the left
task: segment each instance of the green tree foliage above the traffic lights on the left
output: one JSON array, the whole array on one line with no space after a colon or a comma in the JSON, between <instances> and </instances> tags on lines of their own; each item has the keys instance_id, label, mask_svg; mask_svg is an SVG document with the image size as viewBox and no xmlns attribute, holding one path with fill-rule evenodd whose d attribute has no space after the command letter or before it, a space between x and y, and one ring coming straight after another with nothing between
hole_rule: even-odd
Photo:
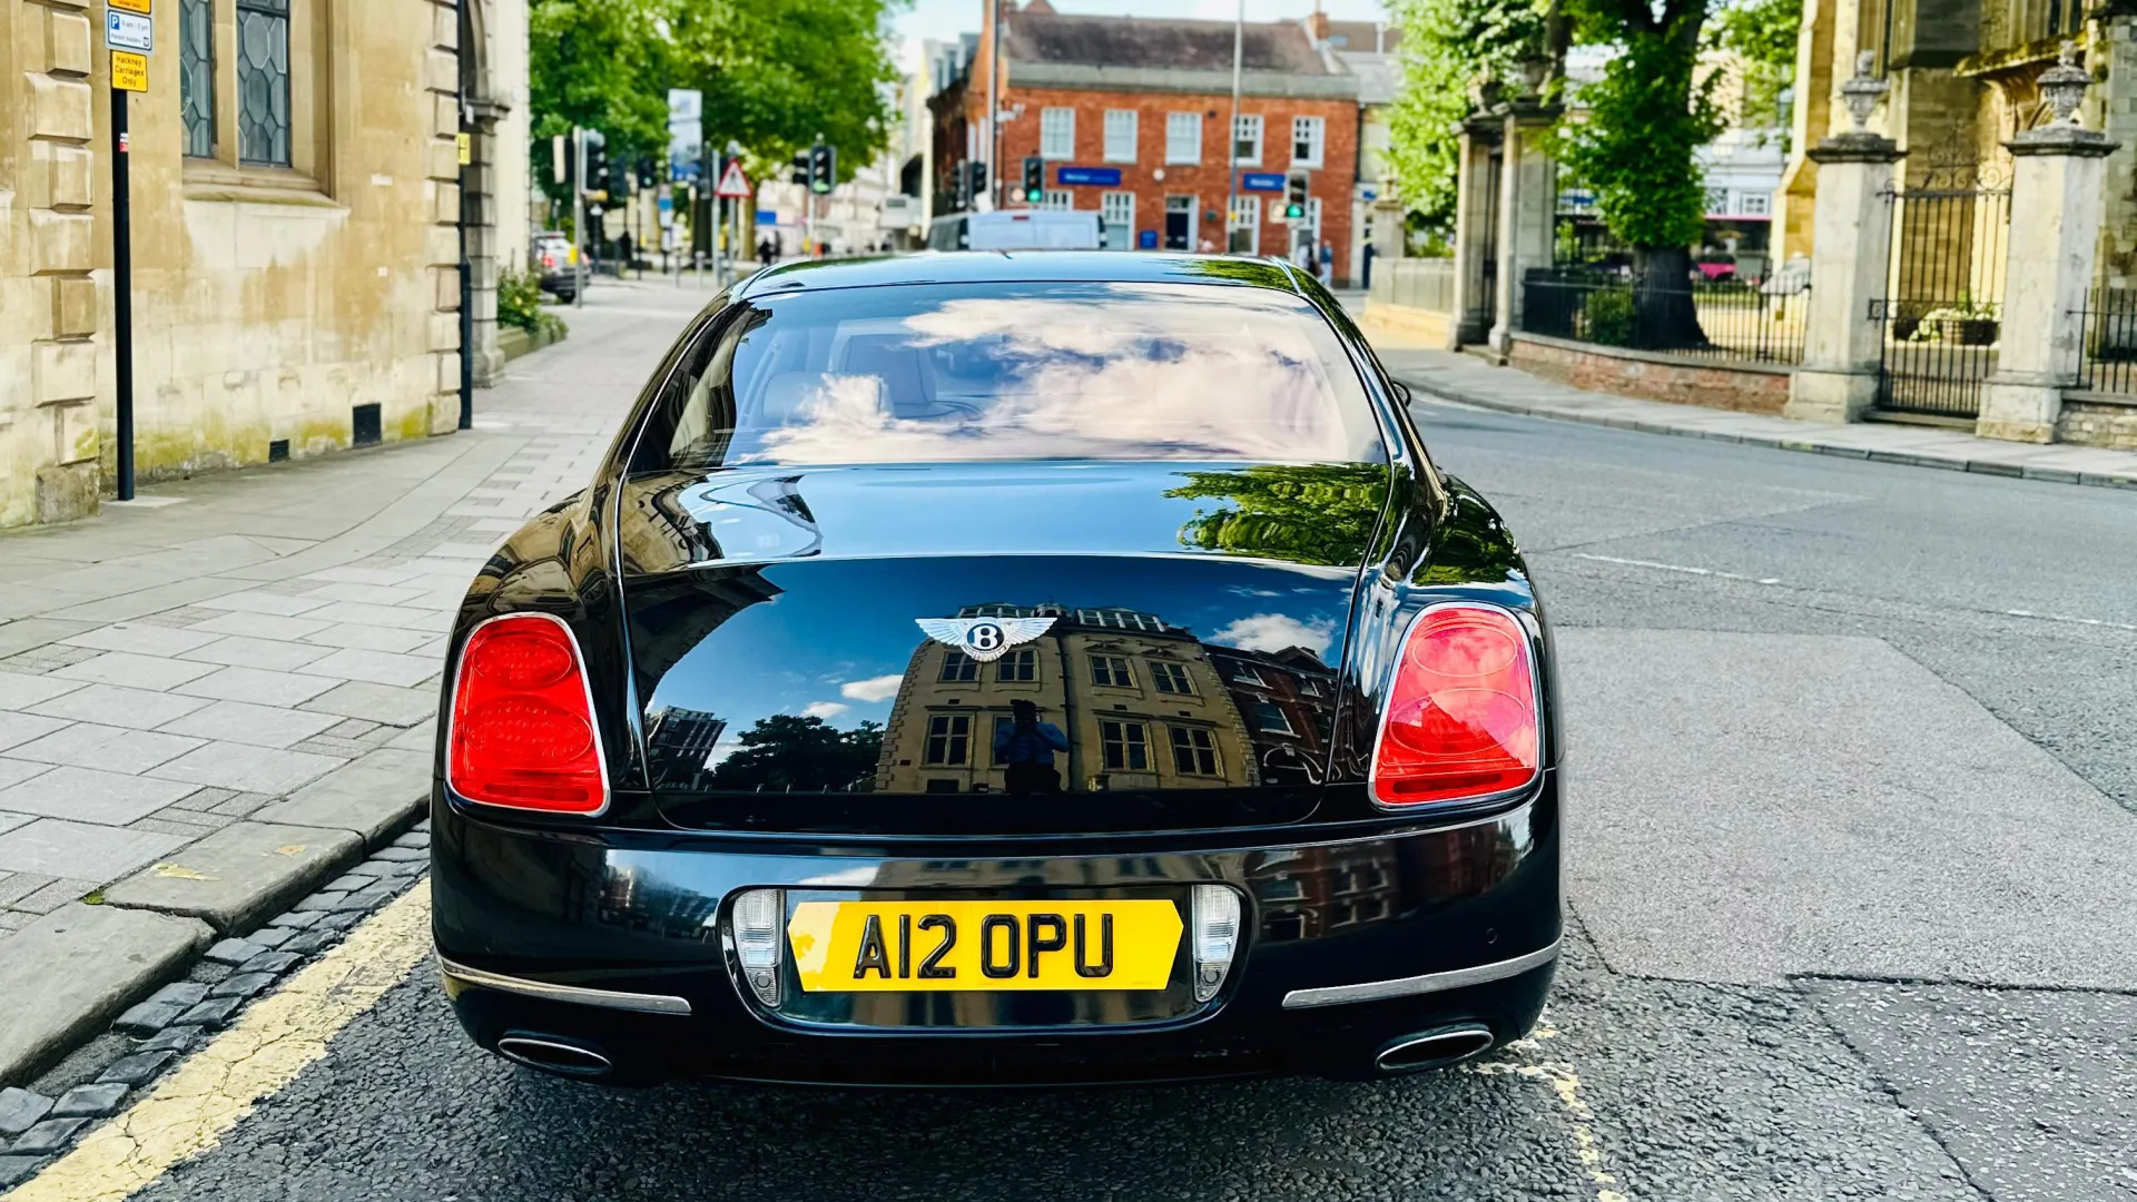
<instances>
[{"instance_id":1,"label":"green tree foliage above the traffic lights on the left","mask_svg":"<svg viewBox=\"0 0 2137 1202\"><path fill-rule=\"evenodd\" d=\"M660 158L669 88L705 94L707 145L759 169L823 137L840 180L889 141L898 79L887 19L906 0L534 0L534 165L549 139L600 130L611 160Z\"/></svg>"}]
</instances>

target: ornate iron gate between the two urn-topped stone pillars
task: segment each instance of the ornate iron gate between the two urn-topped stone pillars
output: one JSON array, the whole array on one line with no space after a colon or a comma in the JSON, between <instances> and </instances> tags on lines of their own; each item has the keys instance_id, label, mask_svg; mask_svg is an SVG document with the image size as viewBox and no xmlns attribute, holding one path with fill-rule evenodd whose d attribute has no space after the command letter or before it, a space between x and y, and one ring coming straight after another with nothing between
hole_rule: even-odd
<instances>
[{"instance_id":1,"label":"ornate iron gate between the two urn-topped stone pillars","mask_svg":"<svg viewBox=\"0 0 2137 1202\"><path fill-rule=\"evenodd\" d=\"M2011 186L1992 163L1932 158L1885 192L1891 272L1870 317L1883 325L1881 411L1972 421L1996 372Z\"/></svg>"}]
</instances>

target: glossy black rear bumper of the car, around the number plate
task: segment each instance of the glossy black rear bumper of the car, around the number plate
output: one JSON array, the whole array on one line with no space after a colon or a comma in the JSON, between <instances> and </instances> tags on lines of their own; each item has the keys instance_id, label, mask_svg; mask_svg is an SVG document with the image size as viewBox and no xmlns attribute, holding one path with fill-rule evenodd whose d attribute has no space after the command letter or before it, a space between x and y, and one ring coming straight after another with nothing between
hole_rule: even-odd
<instances>
[{"instance_id":1,"label":"glossy black rear bumper of the car, around the number plate","mask_svg":"<svg viewBox=\"0 0 2137 1202\"><path fill-rule=\"evenodd\" d=\"M494 826L434 806L436 939L468 1033L598 1052L620 1082L1068 1084L1308 1072L1374 1076L1421 1031L1524 1035L1560 939L1556 772L1517 811L1372 838L1043 858L870 856L761 841ZM1111 1007L940 1007L925 1027L793 1020L742 988L722 900L742 888L1165 890L1248 898L1225 990L1120 1022ZM987 881L987 885L977 885ZM823 995L818 995L823 997ZM970 995L966 995L970 997ZM1113 1014L1113 1018L1107 1018ZM972 1022L972 1024L966 1024Z\"/></svg>"}]
</instances>

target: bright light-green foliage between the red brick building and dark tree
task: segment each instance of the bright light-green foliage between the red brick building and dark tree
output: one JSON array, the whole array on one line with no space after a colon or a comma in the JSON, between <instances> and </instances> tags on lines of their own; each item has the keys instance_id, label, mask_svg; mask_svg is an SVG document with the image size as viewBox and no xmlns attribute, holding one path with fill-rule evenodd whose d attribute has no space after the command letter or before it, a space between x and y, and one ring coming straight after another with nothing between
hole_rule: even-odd
<instances>
[{"instance_id":1,"label":"bright light-green foliage between the red brick building and dark tree","mask_svg":"<svg viewBox=\"0 0 2137 1202\"><path fill-rule=\"evenodd\" d=\"M1389 0L1402 26L1402 90L1387 115L1387 163L1402 201L1428 227L1455 214L1455 124L1479 77L1515 79L1543 41L1539 0Z\"/></svg>"}]
</instances>

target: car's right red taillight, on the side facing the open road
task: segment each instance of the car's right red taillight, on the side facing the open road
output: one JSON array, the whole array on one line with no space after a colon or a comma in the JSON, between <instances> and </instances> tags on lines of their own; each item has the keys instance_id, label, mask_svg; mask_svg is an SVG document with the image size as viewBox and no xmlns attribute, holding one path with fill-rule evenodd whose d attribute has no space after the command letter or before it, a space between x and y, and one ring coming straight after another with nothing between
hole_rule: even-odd
<instances>
[{"instance_id":1,"label":"car's right red taillight, on the side facing the open road","mask_svg":"<svg viewBox=\"0 0 2137 1202\"><path fill-rule=\"evenodd\" d=\"M1410 627L1372 757L1385 806L1519 789L1541 764L1528 631L1489 605L1438 605Z\"/></svg>"}]
</instances>

